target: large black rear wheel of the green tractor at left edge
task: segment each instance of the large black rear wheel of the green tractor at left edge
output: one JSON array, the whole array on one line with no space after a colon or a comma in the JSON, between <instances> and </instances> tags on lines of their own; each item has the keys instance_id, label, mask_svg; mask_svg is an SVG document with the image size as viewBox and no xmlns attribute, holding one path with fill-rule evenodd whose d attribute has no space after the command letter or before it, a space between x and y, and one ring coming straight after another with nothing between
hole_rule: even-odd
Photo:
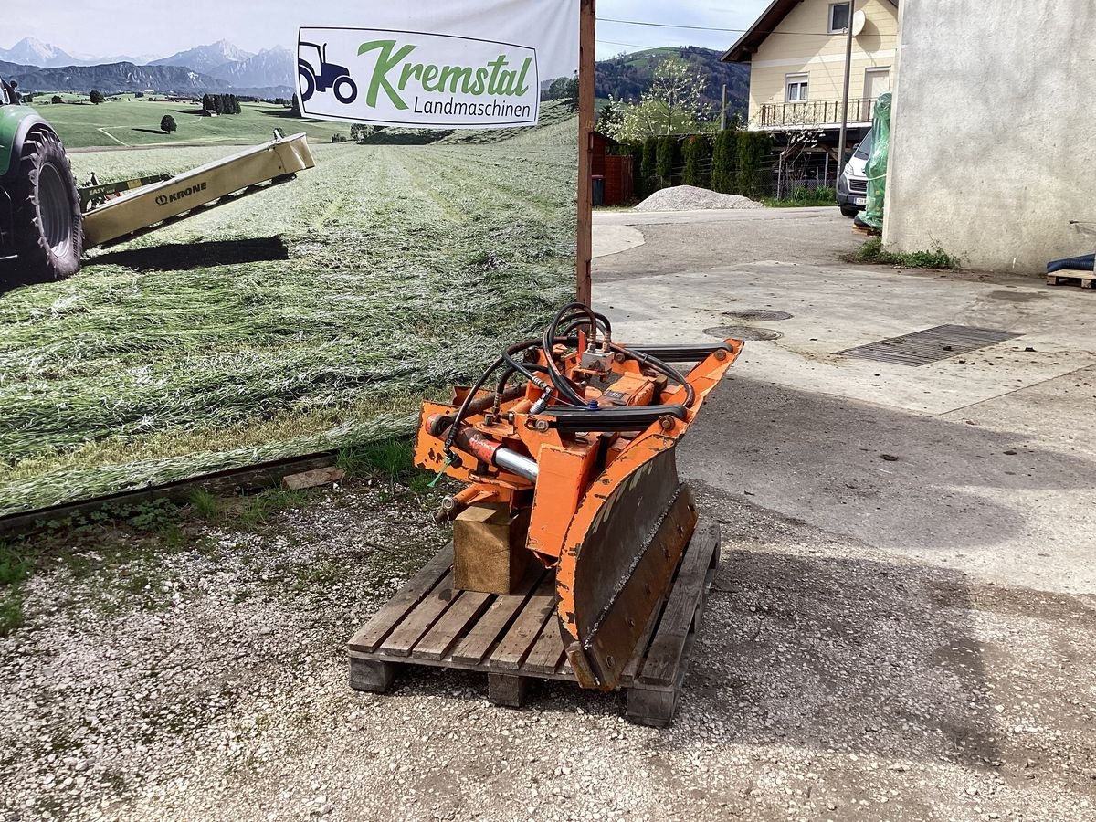
<instances>
[{"instance_id":1,"label":"large black rear wheel of the green tractor at left edge","mask_svg":"<svg viewBox=\"0 0 1096 822\"><path fill-rule=\"evenodd\" d=\"M26 138L12 193L21 278L64 279L80 271L80 195L65 147L54 134L36 132Z\"/></svg>"}]
</instances>

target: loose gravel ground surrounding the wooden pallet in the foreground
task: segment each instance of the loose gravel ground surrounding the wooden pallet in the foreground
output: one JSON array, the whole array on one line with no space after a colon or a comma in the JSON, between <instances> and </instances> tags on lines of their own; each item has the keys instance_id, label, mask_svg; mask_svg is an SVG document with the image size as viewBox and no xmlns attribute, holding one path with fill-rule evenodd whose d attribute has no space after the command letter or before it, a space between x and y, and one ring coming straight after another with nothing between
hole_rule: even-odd
<instances>
[{"instance_id":1,"label":"loose gravel ground surrounding the wooden pallet in the foreground","mask_svg":"<svg viewBox=\"0 0 1096 822\"><path fill-rule=\"evenodd\" d=\"M563 684L522 710L458 672L351 690L347 638L447 538L411 495L81 549L0 639L0 817L1096 818L1092 598L698 490L723 560L667 730Z\"/></svg>"}]
</instances>

